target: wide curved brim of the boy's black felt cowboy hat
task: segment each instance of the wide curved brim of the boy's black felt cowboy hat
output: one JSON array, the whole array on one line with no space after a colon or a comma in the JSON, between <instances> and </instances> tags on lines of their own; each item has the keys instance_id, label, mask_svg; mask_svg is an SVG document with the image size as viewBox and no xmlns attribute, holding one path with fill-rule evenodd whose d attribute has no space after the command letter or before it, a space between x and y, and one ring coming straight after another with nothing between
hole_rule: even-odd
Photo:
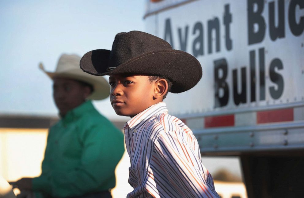
<instances>
[{"instance_id":1,"label":"wide curved brim of the boy's black felt cowboy hat","mask_svg":"<svg viewBox=\"0 0 304 198\"><path fill-rule=\"evenodd\" d=\"M102 61L104 56L102 50L90 51L81 58L80 68L92 75L130 73L165 76L173 82L170 90L172 93L191 89L202 77L199 61L180 50L165 49L148 52L116 66L112 71L106 71L109 66Z\"/></svg>"}]
</instances>

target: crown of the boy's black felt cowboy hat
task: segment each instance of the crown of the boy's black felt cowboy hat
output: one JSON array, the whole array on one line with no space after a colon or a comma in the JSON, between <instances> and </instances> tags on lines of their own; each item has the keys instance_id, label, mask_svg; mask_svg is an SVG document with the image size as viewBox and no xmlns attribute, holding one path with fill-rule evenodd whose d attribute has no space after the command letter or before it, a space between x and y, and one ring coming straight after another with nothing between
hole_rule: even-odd
<instances>
[{"instance_id":1,"label":"crown of the boy's black felt cowboy hat","mask_svg":"<svg viewBox=\"0 0 304 198\"><path fill-rule=\"evenodd\" d=\"M172 49L165 40L141 31L121 32L115 36L108 67L117 67L120 64L145 53L158 50Z\"/></svg>"}]
</instances>

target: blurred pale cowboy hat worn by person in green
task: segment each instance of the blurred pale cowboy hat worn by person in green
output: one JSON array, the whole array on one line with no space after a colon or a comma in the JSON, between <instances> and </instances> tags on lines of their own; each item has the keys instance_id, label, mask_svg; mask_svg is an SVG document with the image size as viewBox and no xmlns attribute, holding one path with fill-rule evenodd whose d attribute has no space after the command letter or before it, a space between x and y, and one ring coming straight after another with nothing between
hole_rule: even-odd
<instances>
[{"instance_id":1,"label":"blurred pale cowboy hat worn by person in green","mask_svg":"<svg viewBox=\"0 0 304 198\"><path fill-rule=\"evenodd\" d=\"M44 71L51 79L54 77L64 77L87 82L93 86L94 90L88 99L101 100L109 96L110 86L106 79L101 76L94 76L82 71L79 67L79 56L76 54L68 55L63 54L58 60L58 64L55 72L45 71L43 64L40 63L39 67Z\"/></svg>"}]
</instances>

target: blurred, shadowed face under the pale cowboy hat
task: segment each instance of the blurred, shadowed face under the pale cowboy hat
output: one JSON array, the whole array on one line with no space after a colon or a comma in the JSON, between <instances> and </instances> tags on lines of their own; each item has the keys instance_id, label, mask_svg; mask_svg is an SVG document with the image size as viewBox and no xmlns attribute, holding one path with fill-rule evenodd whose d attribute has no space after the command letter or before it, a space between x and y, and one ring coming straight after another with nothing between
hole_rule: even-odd
<instances>
[{"instance_id":1,"label":"blurred, shadowed face under the pale cowboy hat","mask_svg":"<svg viewBox=\"0 0 304 198\"><path fill-rule=\"evenodd\" d=\"M90 94L89 87L77 80L54 78L53 82L53 97L61 116L81 105Z\"/></svg>"}]
</instances>

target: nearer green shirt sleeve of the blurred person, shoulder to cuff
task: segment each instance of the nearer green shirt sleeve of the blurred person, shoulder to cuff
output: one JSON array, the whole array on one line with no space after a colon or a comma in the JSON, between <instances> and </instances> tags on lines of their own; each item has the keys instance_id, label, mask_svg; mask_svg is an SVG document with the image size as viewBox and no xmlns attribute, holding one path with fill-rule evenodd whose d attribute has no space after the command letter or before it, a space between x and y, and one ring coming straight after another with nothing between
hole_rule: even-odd
<instances>
[{"instance_id":1,"label":"nearer green shirt sleeve of the blurred person, shoulder to cuff","mask_svg":"<svg viewBox=\"0 0 304 198\"><path fill-rule=\"evenodd\" d=\"M123 141L123 134L112 125L92 126L85 134L79 166L74 170L52 170L33 178L33 191L68 197L92 193L96 189L108 190L102 187L112 182L116 165L124 153Z\"/></svg>"}]
</instances>

